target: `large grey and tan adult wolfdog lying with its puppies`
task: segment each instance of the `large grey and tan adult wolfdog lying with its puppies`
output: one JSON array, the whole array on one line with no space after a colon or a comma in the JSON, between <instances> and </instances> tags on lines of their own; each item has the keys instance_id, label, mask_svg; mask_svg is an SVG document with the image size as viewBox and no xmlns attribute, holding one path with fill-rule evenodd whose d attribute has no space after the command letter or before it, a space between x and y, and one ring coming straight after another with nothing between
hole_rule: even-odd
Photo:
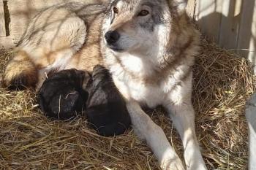
<instances>
[{"instance_id":1,"label":"large grey and tan adult wolfdog lying with its puppies","mask_svg":"<svg viewBox=\"0 0 256 170\"><path fill-rule=\"evenodd\" d=\"M199 34L186 5L186 0L92 0L45 9L20 40L4 84L39 88L48 72L104 64L126 99L135 132L146 139L162 169L184 166L142 106L165 107L184 144L187 169L206 169L191 101Z\"/></svg>"}]
</instances>

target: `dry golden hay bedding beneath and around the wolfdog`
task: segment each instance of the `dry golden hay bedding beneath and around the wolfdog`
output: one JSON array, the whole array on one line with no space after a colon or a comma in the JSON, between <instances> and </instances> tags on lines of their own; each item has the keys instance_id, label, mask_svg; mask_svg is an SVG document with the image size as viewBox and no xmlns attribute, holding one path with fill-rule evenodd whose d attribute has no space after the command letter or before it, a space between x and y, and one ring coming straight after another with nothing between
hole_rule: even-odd
<instances>
[{"instance_id":1,"label":"dry golden hay bedding beneath and around the wolfdog","mask_svg":"<svg viewBox=\"0 0 256 170\"><path fill-rule=\"evenodd\" d=\"M253 77L244 58L202 41L195 65L196 131L209 169L246 169L246 98ZM1 50L0 69L11 54ZM0 169L159 169L157 160L133 133L105 138L84 118L49 120L30 90L0 90ZM160 112L156 114L156 112ZM161 109L148 112L179 155L181 141ZM182 155L181 155L182 156Z\"/></svg>"}]
</instances>

